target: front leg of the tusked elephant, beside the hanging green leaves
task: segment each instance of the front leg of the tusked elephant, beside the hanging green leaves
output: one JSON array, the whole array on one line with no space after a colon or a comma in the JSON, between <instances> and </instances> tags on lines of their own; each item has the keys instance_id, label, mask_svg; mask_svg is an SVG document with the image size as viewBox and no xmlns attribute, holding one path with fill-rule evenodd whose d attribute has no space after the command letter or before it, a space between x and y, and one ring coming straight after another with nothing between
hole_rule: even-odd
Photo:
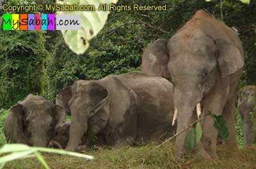
<instances>
[{"instance_id":1,"label":"front leg of the tusked elephant, beside the hanging green leaves","mask_svg":"<svg viewBox=\"0 0 256 169\"><path fill-rule=\"evenodd\" d=\"M214 120L210 115L205 116L204 121L202 121L202 128L202 144L204 149L211 156L211 158L216 158L218 131L216 128L214 128Z\"/></svg>"}]
</instances>

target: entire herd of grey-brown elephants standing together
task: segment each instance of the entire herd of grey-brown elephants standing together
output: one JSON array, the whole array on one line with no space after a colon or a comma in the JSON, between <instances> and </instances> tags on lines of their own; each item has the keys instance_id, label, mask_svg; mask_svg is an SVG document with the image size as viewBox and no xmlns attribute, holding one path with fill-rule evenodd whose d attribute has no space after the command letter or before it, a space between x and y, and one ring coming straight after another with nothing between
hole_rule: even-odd
<instances>
[{"instance_id":1,"label":"entire herd of grey-brown elephants standing together","mask_svg":"<svg viewBox=\"0 0 256 169\"><path fill-rule=\"evenodd\" d=\"M199 10L168 41L156 40L145 48L141 71L77 80L58 93L56 103L29 94L10 109L4 134L10 143L81 151L92 145L92 133L97 145L141 145L179 133L174 152L182 157L186 128L211 112L223 115L230 135L226 145L234 148L243 66L237 33ZM248 86L237 101L246 146L255 141L255 99L256 87ZM71 122L65 122L68 113ZM201 124L202 156L215 158L214 121L205 116Z\"/></svg>"}]
</instances>

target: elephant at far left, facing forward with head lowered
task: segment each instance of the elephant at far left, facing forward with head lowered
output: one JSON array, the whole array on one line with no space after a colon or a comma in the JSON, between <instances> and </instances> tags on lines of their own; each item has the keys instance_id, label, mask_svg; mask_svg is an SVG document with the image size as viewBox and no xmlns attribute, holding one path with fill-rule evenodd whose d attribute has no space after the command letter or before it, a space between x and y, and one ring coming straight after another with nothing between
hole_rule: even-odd
<instances>
[{"instance_id":1,"label":"elephant at far left, facing forward with head lowered","mask_svg":"<svg viewBox=\"0 0 256 169\"><path fill-rule=\"evenodd\" d=\"M10 109L4 122L7 142L47 147L54 127L64 121L65 110L40 96L29 94Z\"/></svg>"}]
</instances>

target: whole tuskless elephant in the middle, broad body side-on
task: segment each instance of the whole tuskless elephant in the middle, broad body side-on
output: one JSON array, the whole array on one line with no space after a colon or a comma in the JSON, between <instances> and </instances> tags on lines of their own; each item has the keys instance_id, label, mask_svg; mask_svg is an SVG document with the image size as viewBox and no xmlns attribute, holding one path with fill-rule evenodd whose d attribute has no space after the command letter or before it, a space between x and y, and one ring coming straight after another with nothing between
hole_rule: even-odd
<instances>
[{"instance_id":1,"label":"whole tuskless elephant in the middle, broad body side-on","mask_svg":"<svg viewBox=\"0 0 256 169\"><path fill-rule=\"evenodd\" d=\"M161 139L171 129L172 89L168 80L139 71L76 81L56 99L72 115L66 149L77 151L88 124L107 145Z\"/></svg>"}]
</instances>

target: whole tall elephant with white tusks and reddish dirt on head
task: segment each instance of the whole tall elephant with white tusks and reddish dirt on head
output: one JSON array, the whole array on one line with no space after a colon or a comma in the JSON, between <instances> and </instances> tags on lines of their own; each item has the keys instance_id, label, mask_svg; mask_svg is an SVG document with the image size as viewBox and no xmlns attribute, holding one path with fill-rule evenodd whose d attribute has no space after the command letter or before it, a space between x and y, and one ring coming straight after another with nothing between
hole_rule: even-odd
<instances>
[{"instance_id":1,"label":"whole tall elephant with white tusks and reddish dirt on head","mask_svg":"<svg viewBox=\"0 0 256 169\"><path fill-rule=\"evenodd\" d=\"M166 57L168 62L161 62ZM174 106L178 110L177 132L189 125L193 110L200 103L203 114L223 115L230 133L227 145L236 147L234 108L243 57L236 32L199 10L168 42L157 40L145 49L141 70L167 78L169 74L172 78ZM202 121L205 158L216 156L218 132L213 124L210 116ZM176 137L178 157L184 154L187 133L186 130Z\"/></svg>"}]
</instances>

